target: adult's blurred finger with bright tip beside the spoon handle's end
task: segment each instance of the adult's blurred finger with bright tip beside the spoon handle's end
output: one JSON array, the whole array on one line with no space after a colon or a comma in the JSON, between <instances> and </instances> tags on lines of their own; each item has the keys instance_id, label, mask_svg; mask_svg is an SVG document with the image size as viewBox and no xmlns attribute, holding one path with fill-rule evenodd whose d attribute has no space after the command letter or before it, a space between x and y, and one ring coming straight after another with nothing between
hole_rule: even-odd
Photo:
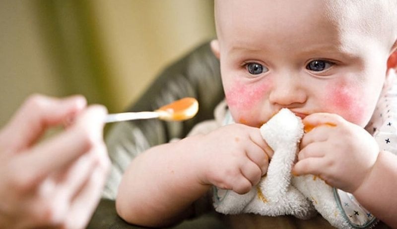
<instances>
[{"instance_id":1,"label":"adult's blurred finger with bright tip beside the spoon handle's end","mask_svg":"<svg viewBox=\"0 0 397 229\"><path fill-rule=\"evenodd\" d=\"M90 106L77 117L64 133L41 142L24 154L19 163L29 173L26 186L33 187L55 171L65 169L82 154L103 144L103 126L107 111L103 106Z\"/></svg>"}]
</instances>

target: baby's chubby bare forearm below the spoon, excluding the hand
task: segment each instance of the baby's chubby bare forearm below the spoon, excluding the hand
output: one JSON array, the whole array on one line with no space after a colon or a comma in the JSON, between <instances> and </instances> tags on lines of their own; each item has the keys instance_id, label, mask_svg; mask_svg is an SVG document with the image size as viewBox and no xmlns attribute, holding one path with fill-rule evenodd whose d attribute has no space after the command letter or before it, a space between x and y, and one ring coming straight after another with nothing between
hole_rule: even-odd
<instances>
[{"instance_id":1,"label":"baby's chubby bare forearm below the spoon, excluding the hand","mask_svg":"<svg viewBox=\"0 0 397 229\"><path fill-rule=\"evenodd\" d=\"M192 203L210 188L197 179L198 168L192 166L192 143L186 138L159 145L132 161L116 200L124 220L137 225L165 226L191 214Z\"/></svg>"}]
</instances>

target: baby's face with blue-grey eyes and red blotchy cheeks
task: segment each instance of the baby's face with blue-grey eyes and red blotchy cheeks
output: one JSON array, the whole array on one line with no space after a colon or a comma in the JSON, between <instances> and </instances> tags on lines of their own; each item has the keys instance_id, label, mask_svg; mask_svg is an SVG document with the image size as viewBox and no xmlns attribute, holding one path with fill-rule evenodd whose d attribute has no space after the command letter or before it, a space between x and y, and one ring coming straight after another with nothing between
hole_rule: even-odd
<instances>
[{"instance_id":1,"label":"baby's face with blue-grey eyes and red blotchy cheeks","mask_svg":"<svg viewBox=\"0 0 397 229\"><path fill-rule=\"evenodd\" d=\"M259 127L286 107L302 118L328 112L368 123L391 46L360 29L354 10L332 11L332 2L218 2L222 81L236 122Z\"/></svg>"}]
</instances>

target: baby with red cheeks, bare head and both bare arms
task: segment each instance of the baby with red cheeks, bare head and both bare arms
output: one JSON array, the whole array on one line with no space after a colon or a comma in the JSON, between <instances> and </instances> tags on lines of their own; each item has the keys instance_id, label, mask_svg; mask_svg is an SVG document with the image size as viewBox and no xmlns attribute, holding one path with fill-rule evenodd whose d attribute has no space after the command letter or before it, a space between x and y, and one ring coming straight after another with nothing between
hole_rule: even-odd
<instances>
[{"instance_id":1,"label":"baby with red cheeks, bare head and both bare arms","mask_svg":"<svg viewBox=\"0 0 397 229\"><path fill-rule=\"evenodd\" d=\"M293 174L320 177L397 227L397 151L372 136L395 76L396 0L217 0L215 20L211 47L235 124L137 156L119 187L120 216L170 225L213 185L249 192L273 154L259 127L288 108L313 128Z\"/></svg>"}]
</instances>

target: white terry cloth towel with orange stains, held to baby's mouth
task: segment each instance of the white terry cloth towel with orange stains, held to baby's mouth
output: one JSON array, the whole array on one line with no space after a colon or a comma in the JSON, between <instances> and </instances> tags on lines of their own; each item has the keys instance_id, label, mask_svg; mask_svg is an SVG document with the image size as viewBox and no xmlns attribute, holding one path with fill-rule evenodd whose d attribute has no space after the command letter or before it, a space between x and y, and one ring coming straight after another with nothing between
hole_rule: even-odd
<instances>
[{"instance_id":1,"label":"white terry cloth towel with orange stains, held to baby's mouth","mask_svg":"<svg viewBox=\"0 0 397 229\"><path fill-rule=\"evenodd\" d=\"M319 212L336 228L357 228L340 210L336 189L312 175L291 175L298 144L303 136L302 120L284 108L260 130L274 151L267 174L257 186L243 195L214 187L215 210L223 214L294 215L300 219L309 219ZM363 227L358 228L371 227L373 223L374 220L362 222L360 225Z\"/></svg>"}]
</instances>

